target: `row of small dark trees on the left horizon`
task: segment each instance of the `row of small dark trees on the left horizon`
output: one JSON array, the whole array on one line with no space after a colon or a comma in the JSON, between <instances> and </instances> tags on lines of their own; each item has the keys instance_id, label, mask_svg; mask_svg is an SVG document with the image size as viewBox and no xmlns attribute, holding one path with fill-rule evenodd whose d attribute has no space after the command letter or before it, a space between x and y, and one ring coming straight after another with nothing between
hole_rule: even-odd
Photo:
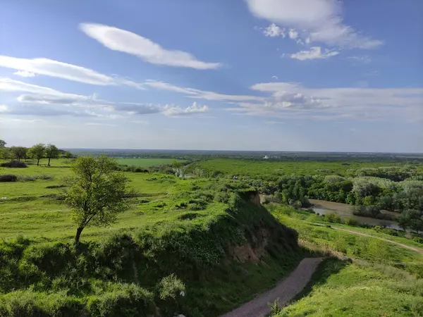
<instances>
[{"instance_id":1,"label":"row of small dark trees on the left horizon","mask_svg":"<svg viewBox=\"0 0 423 317\"><path fill-rule=\"evenodd\" d=\"M0 159L17 161L36 159L37 166L39 166L39 160L49 159L47 165L50 166L51 159L59 159L61 156L67 159L74 157L71 152L61 150L54 144L39 143L32 147L6 147L6 142L0 140Z\"/></svg>"}]
</instances>

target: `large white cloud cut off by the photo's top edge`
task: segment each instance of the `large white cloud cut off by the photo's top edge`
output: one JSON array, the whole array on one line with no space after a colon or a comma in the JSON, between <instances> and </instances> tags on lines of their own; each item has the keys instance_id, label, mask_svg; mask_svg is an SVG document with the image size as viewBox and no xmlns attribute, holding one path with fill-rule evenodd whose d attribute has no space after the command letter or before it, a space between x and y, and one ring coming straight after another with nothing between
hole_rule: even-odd
<instances>
[{"instance_id":1,"label":"large white cloud cut off by the photo's top edge","mask_svg":"<svg viewBox=\"0 0 423 317\"><path fill-rule=\"evenodd\" d=\"M296 36L306 42L360 49L374 49L383 44L379 39L361 35L353 27L344 25L338 0L247 0L247 5L258 18L302 30Z\"/></svg>"}]
</instances>

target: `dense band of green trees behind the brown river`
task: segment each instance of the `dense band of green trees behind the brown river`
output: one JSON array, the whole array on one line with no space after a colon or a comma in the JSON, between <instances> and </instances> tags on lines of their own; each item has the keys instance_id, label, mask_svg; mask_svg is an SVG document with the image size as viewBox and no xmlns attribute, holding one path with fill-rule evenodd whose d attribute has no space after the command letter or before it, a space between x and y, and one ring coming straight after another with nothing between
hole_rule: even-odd
<instances>
[{"instance_id":1,"label":"dense band of green trees behind the brown river","mask_svg":"<svg viewBox=\"0 0 423 317\"><path fill-rule=\"evenodd\" d=\"M238 178L219 170L208 172L212 178ZM423 230L423 173L414 164L359 168L345 174L351 176L263 175L238 179L257 187L269 199L297 208L309 207L308 199L321 199L353 205L357 216L394 220L395 216L381 212L394 211L401 228Z\"/></svg>"}]
</instances>

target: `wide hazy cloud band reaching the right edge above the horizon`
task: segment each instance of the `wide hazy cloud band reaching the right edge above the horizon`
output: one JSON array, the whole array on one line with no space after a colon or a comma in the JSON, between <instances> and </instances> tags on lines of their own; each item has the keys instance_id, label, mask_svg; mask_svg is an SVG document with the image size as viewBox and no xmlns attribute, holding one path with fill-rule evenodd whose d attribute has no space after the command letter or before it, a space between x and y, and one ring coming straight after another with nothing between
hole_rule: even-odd
<instances>
[{"instance_id":1,"label":"wide hazy cloud band reaching the right edge above the horizon","mask_svg":"<svg viewBox=\"0 0 423 317\"><path fill-rule=\"evenodd\" d=\"M250 87L271 93L264 103L238 103L245 114L331 120L422 120L423 88L311 89L290 82Z\"/></svg>"}]
</instances>

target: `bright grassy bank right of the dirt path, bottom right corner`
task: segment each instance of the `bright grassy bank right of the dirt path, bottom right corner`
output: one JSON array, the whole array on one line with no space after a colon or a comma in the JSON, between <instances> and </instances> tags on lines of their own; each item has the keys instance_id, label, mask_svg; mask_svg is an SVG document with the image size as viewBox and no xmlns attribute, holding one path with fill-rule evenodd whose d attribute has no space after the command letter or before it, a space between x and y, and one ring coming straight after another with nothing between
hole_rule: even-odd
<instances>
[{"instance_id":1,"label":"bright grassy bank right of the dirt path, bottom right corner","mask_svg":"<svg viewBox=\"0 0 423 317\"><path fill-rule=\"evenodd\" d=\"M328 260L314 273L309 294L284 316L422 316L423 280L380 266Z\"/></svg>"}]
</instances>

